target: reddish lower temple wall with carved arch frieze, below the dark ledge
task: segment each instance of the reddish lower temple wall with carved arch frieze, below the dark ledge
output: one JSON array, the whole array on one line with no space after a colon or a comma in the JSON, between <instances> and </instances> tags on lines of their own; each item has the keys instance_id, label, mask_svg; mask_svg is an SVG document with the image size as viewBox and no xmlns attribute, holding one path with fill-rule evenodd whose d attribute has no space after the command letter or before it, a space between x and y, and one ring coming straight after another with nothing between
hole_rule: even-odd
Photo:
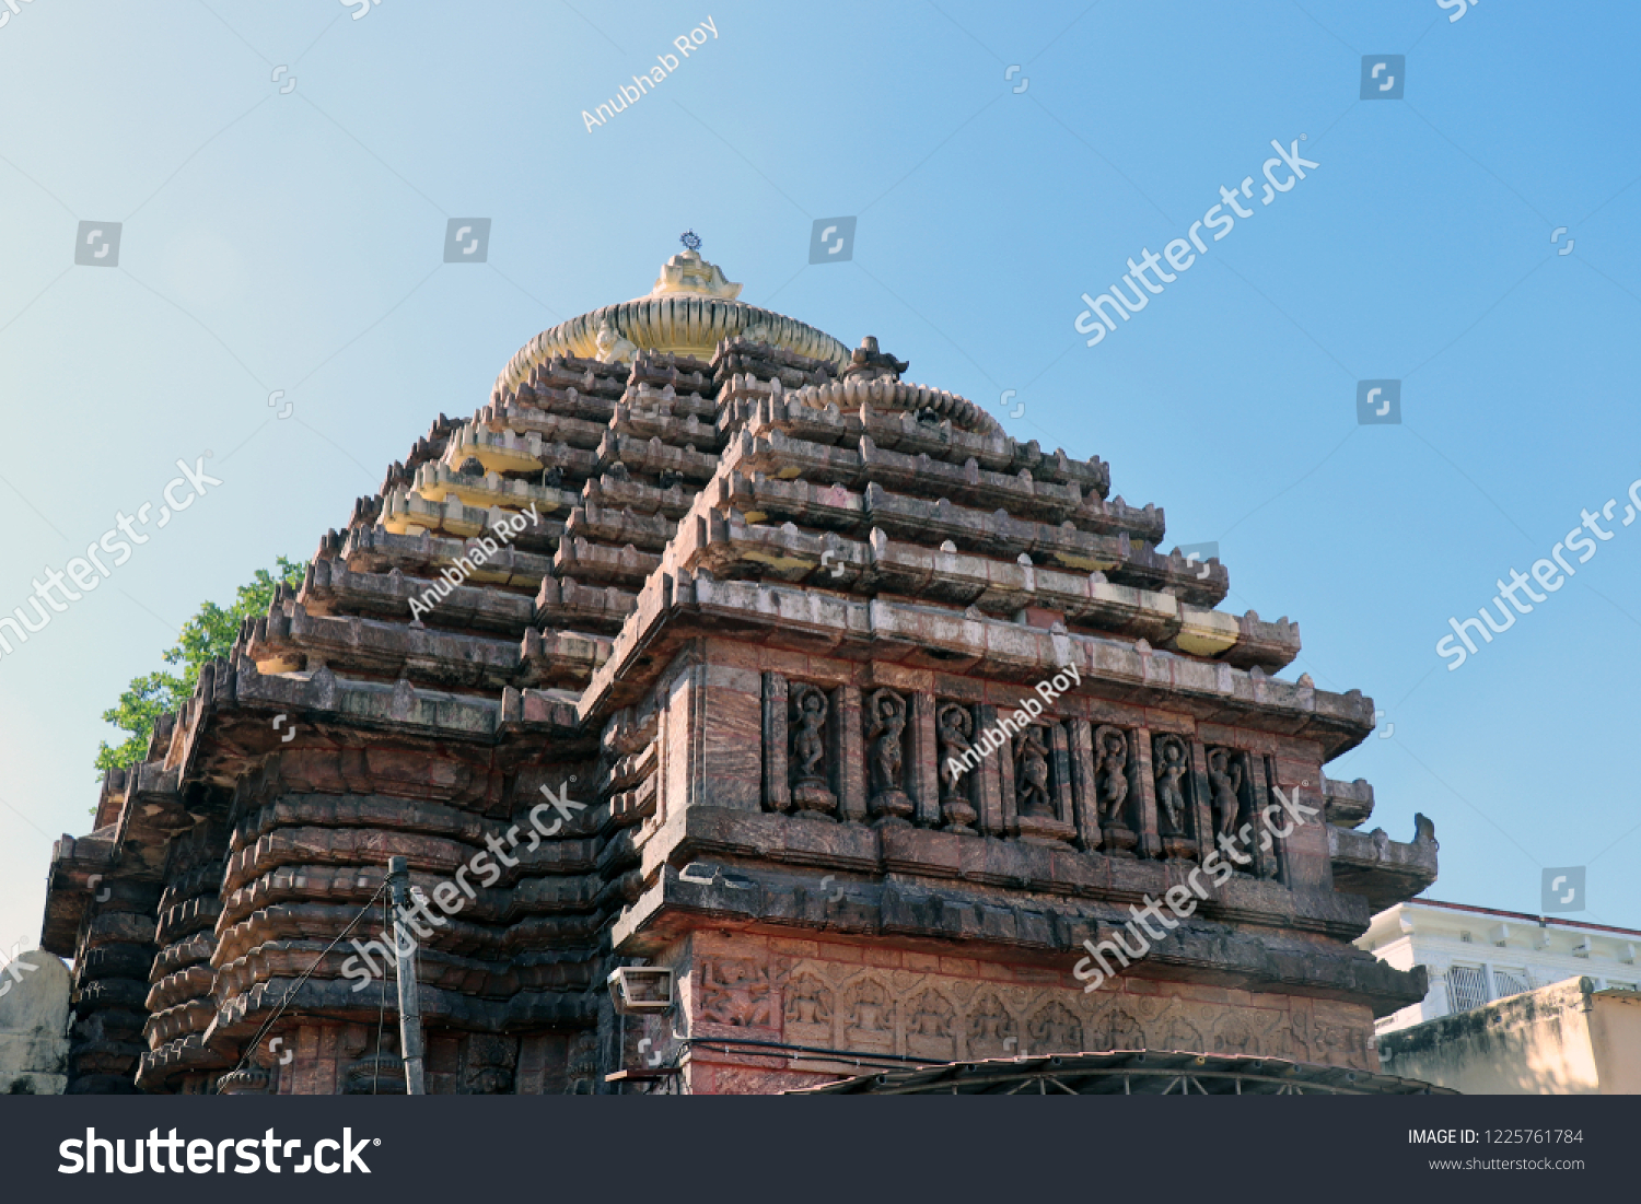
<instances>
[{"instance_id":1,"label":"reddish lower temple wall with carved arch frieze, below the dark ledge","mask_svg":"<svg viewBox=\"0 0 1641 1204\"><path fill-rule=\"evenodd\" d=\"M689 1091L771 1091L888 1068L1085 1050L1200 1050L1378 1071L1360 1004L1124 974L1085 992L1068 971L884 945L702 930L676 950ZM630 1022L629 1065L676 1053L676 1019ZM645 1042L640 1050L640 1042ZM806 1047L760 1051L745 1042ZM834 1053L827 1053L834 1051ZM858 1053L852 1061L837 1051Z\"/></svg>"}]
</instances>

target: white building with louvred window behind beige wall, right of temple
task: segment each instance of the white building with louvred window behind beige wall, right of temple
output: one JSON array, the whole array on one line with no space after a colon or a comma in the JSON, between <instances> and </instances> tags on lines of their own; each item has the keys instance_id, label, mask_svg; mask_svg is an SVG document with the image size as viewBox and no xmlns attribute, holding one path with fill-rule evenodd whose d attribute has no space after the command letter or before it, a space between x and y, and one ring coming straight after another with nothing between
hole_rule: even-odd
<instances>
[{"instance_id":1,"label":"white building with louvred window behind beige wall, right of temple","mask_svg":"<svg viewBox=\"0 0 1641 1204\"><path fill-rule=\"evenodd\" d=\"M1378 1020L1382 1033L1569 978L1602 991L1641 984L1641 932L1492 907L1415 899L1382 910L1355 943L1396 969L1429 969L1429 994Z\"/></svg>"}]
</instances>

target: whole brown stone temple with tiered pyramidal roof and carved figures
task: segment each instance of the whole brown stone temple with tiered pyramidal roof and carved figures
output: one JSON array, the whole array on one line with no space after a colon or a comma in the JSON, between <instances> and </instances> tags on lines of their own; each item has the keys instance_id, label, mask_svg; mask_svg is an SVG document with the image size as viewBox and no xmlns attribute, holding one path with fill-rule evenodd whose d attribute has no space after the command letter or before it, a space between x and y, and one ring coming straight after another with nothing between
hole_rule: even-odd
<instances>
[{"instance_id":1,"label":"whole brown stone temple with tiered pyramidal roof and carved figures","mask_svg":"<svg viewBox=\"0 0 1641 1204\"><path fill-rule=\"evenodd\" d=\"M1424 971L1351 942L1436 845L1355 832L1372 789L1323 776L1372 700L1273 677L1298 627L1218 610L1226 569L1104 461L738 292L691 248L537 335L107 776L41 938L67 1091L404 1091L389 856L437 917L433 1092L1111 1050L1377 1074ZM1323 817L1085 991L1083 942L1278 791Z\"/></svg>"}]
</instances>

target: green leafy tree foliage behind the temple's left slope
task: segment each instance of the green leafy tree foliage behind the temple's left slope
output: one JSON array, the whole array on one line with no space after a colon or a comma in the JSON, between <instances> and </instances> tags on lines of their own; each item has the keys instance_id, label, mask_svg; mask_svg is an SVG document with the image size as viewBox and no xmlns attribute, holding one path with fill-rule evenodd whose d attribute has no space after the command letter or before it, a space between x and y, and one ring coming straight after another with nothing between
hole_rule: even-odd
<instances>
[{"instance_id":1,"label":"green leafy tree foliage behind the temple's left slope","mask_svg":"<svg viewBox=\"0 0 1641 1204\"><path fill-rule=\"evenodd\" d=\"M274 600L274 589L281 584L295 589L307 572L307 561L289 561L279 558L274 572L258 569L256 577L240 586L233 604L220 607L205 602L194 618L182 625L177 643L166 651L166 664L181 666L179 671L161 669L146 677L133 677L131 686L120 695L120 704L103 712L103 722L130 733L118 745L107 740L97 750L97 776L105 769L123 769L148 756L148 740L154 732L154 722L166 714L174 714L185 699L194 695L194 687L200 677L200 668L228 654L235 638L240 635L240 622L267 613L267 604Z\"/></svg>"}]
</instances>

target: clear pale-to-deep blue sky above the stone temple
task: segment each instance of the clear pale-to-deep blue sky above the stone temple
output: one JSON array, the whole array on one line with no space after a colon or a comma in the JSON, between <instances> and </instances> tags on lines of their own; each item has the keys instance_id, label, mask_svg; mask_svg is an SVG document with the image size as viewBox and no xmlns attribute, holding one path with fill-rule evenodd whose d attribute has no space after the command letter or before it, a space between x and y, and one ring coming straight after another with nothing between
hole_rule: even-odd
<instances>
[{"instance_id":1,"label":"clear pale-to-deep blue sky above the stone temple","mask_svg":"<svg viewBox=\"0 0 1641 1204\"><path fill-rule=\"evenodd\" d=\"M1108 459L1170 545L1218 540L1226 607L1303 627L1285 676L1387 712L1329 773L1370 779L1398 840L1436 820L1433 896L1536 912L1543 868L1588 866L1574 919L1641 927L1641 527L1459 671L1434 650L1641 477L1641 10L1452 11L20 5L0 610L158 510L176 459L210 449L223 484L0 659L0 945L33 945L51 838L89 827L100 712L199 602L309 556L532 335L648 292L684 228L747 300L876 335L1011 433ZM1401 100L1359 100L1364 54L1406 56ZM1301 135L1319 166L1259 203L1270 141ZM1246 176L1254 217L1086 348L1080 294ZM855 258L809 266L840 215ZM487 264L441 262L453 217L492 220ZM80 221L121 223L118 267L74 266ZM1357 425L1359 379L1403 381L1405 422Z\"/></svg>"}]
</instances>

